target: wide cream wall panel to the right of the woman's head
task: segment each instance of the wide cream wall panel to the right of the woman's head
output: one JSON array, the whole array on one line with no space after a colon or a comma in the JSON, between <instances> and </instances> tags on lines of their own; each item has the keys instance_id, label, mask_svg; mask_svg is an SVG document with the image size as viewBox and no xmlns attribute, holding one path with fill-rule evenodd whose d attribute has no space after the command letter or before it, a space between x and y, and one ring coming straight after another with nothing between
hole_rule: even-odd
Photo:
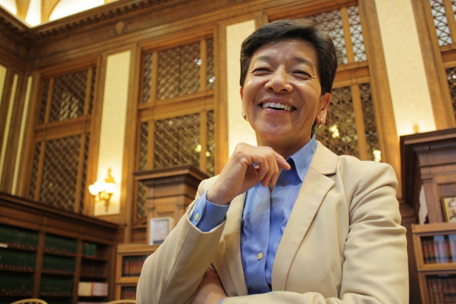
<instances>
[{"instance_id":1,"label":"wide cream wall panel to the right of the woman's head","mask_svg":"<svg viewBox=\"0 0 456 304\"><path fill-rule=\"evenodd\" d=\"M410 0L376 0L398 136L434 131L435 121Z\"/></svg>"}]
</instances>

